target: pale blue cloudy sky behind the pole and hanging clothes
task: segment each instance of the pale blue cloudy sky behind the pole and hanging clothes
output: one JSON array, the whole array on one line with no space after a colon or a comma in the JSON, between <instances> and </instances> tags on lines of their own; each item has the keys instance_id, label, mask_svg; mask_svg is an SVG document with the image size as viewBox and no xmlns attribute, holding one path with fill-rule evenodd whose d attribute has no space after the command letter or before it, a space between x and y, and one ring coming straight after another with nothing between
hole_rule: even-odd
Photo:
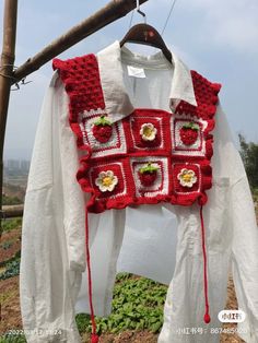
<instances>
[{"instance_id":1,"label":"pale blue cloudy sky behind the pole and hanging clothes","mask_svg":"<svg viewBox=\"0 0 258 343\"><path fill-rule=\"evenodd\" d=\"M3 0L0 2L2 20ZM16 60L20 66L71 26L104 7L106 0L19 0ZM159 32L172 0L149 0L142 5L148 23ZM133 24L141 22L138 14ZM70 48L61 58L97 52L128 31L130 14ZM1 22L0 44L2 44ZM222 83L222 106L233 133L258 142L258 1L177 0L163 35L166 44L190 68ZM141 50L137 47L138 51ZM5 158L31 158L51 63L31 74L33 81L11 93Z\"/></svg>"}]
</instances>

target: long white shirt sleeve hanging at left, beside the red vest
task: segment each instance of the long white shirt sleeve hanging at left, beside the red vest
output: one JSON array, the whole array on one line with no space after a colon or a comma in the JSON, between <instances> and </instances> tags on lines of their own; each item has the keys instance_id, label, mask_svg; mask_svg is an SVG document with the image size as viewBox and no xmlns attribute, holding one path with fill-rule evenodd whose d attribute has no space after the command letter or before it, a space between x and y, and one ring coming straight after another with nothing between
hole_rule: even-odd
<instances>
[{"instance_id":1,"label":"long white shirt sleeve hanging at left, beside the red vest","mask_svg":"<svg viewBox=\"0 0 258 343\"><path fill-rule=\"evenodd\" d=\"M77 144L63 122L63 96L55 74L43 104L25 197L20 298L28 343L81 342L74 304L85 269L84 199L74 180Z\"/></svg>"}]
</instances>

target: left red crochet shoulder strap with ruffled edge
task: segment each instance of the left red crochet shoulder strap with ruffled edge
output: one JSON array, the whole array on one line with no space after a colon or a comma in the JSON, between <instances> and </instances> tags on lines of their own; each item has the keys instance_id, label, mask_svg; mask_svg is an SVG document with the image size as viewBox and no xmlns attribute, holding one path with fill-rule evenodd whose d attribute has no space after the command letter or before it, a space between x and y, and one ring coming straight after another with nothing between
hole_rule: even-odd
<instances>
[{"instance_id":1,"label":"left red crochet shoulder strap with ruffled edge","mask_svg":"<svg viewBox=\"0 0 258 343\"><path fill-rule=\"evenodd\" d=\"M54 70L58 69L70 98L69 121L78 138L78 147L87 150L83 143L79 115L84 110L103 110L105 108L96 57L90 54L66 61L55 58L52 68Z\"/></svg>"}]
</instances>

